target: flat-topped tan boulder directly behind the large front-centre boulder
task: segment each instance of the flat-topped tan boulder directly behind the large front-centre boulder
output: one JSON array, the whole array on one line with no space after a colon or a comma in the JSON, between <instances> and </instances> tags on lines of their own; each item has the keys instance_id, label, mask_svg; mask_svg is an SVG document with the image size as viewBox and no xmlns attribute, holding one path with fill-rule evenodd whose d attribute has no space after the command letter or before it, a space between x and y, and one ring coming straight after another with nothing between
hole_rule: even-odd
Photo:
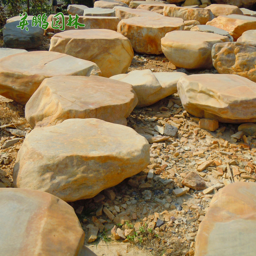
<instances>
[{"instance_id":1,"label":"flat-topped tan boulder directly behind the large front-centre boulder","mask_svg":"<svg viewBox=\"0 0 256 256\"><path fill-rule=\"evenodd\" d=\"M69 118L126 125L137 102L131 84L99 76L55 76L44 79L26 104L25 116L32 127L60 124Z\"/></svg>"}]
</instances>

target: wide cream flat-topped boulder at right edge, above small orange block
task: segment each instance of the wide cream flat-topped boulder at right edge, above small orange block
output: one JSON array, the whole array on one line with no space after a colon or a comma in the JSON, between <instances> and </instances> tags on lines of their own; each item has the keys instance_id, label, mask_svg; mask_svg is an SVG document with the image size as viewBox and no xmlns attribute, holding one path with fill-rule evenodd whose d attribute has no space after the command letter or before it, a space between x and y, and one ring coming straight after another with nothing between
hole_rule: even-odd
<instances>
[{"instance_id":1,"label":"wide cream flat-topped boulder at right edge, above small orange block","mask_svg":"<svg viewBox=\"0 0 256 256\"><path fill-rule=\"evenodd\" d=\"M181 77L180 100L188 113L224 123L256 121L256 83L238 75L200 74Z\"/></svg>"}]
</instances>

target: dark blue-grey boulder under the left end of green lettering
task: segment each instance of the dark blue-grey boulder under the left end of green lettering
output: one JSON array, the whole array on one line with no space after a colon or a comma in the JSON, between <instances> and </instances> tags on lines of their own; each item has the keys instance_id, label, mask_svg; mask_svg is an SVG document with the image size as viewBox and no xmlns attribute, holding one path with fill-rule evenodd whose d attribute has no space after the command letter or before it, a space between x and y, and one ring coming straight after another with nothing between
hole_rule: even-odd
<instances>
[{"instance_id":1,"label":"dark blue-grey boulder under the left end of green lettering","mask_svg":"<svg viewBox=\"0 0 256 256\"><path fill-rule=\"evenodd\" d=\"M3 38L4 46L7 48L16 49L31 49L36 48L43 43L44 29L39 26L32 27L31 22L28 22L28 31L17 28L20 21L12 21L4 25Z\"/></svg>"}]
</instances>

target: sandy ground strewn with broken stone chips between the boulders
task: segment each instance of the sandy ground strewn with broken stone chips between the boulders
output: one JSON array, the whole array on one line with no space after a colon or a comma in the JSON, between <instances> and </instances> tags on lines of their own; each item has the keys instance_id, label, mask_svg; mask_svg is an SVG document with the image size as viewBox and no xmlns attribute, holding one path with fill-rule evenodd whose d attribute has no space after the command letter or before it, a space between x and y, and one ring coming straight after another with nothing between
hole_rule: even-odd
<instances>
[{"instance_id":1,"label":"sandy ground strewn with broken stone chips between the boulders","mask_svg":"<svg viewBox=\"0 0 256 256\"><path fill-rule=\"evenodd\" d=\"M32 50L48 51L49 45L50 38L44 37L44 44ZM135 54L127 72L135 69L175 72L176 67L164 55ZM200 73L217 71L189 71ZM24 117L24 106L2 96L0 120L0 187L13 187L12 168L17 152L32 128ZM178 134L150 144L151 163L144 171L92 199L69 203L85 231L85 244L93 252L99 256L193 256L198 226L218 189L236 181L255 182L255 136L231 137L238 124L220 123L218 130L208 132L199 128L198 121L183 109L177 93L133 110L127 123L138 133L162 135L164 124L171 124L178 128ZM12 129L17 129L18 134ZM208 188L184 188L181 181L189 171L198 173ZM113 215L104 211L105 206L113 208L114 215L123 214L113 222ZM88 233L92 224L100 233L89 243L94 235ZM114 225L119 228L117 231L112 230ZM120 239L116 240L111 230Z\"/></svg>"}]
</instances>

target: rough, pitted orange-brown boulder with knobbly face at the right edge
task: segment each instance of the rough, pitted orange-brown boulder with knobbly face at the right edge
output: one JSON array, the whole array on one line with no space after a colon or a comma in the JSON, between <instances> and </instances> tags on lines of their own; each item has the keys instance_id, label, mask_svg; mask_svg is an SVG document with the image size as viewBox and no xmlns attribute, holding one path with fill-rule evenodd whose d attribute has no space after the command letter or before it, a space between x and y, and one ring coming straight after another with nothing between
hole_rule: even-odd
<instances>
[{"instance_id":1,"label":"rough, pitted orange-brown boulder with knobbly face at the right edge","mask_svg":"<svg viewBox=\"0 0 256 256\"><path fill-rule=\"evenodd\" d=\"M236 74L256 82L256 43L215 44L212 60L220 74Z\"/></svg>"}]
</instances>

